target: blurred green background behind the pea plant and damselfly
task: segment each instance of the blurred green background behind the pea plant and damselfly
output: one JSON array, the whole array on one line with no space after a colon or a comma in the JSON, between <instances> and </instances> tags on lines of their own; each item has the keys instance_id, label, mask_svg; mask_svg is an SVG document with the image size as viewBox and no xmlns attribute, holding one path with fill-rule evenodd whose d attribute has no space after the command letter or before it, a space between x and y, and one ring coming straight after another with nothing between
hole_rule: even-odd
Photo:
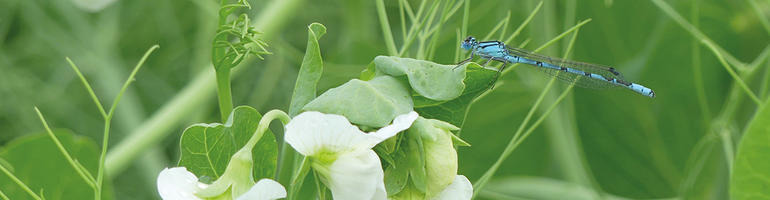
<instances>
[{"instance_id":1,"label":"blurred green background behind the pea plant and damselfly","mask_svg":"<svg viewBox=\"0 0 770 200\"><path fill-rule=\"evenodd\" d=\"M278 1L284 1L285 9L271 10ZM101 141L101 116L65 57L80 67L103 102L112 102L142 54L160 45L119 105L112 145L211 68L215 1L124 0L96 11L79 6L95 2L101 1L0 1L0 145L43 131L33 106L53 127ZM269 29L261 31L266 32L273 55L240 66L232 83L236 105L263 113L288 108L307 41L306 26L312 22L328 28L320 41L325 64L321 91L357 77L375 56L387 54L375 1L250 2L252 18L270 19L270 26L256 25ZM421 3L408 2L413 9ZM740 74L764 98L763 78L770 66L762 61L770 30L763 27L755 8L767 16L768 1L756 1L757 7L751 1L666 2L738 61L758 61L757 70ZM487 35L508 12L510 33L538 3L472 1L468 33ZM385 5L400 48L398 3L385 1ZM592 21L580 29L571 57L614 66L627 79L654 89L657 97L574 89L506 160L481 197L559 199L565 197L561 193L576 198L579 193L588 199L727 199L725 146L736 146L757 106L740 93L729 99L735 90L733 79L714 54L652 1L547 0L512 44L528 41L524 48L532 50L588 18ZM462 9L442 25L432 61L456 62L455 32L461 19ZM497 35L493 39L505 39ZM560 57L570 37L541 53ZM700 82L695 79L698 68ZM531 67L519 66L502 81L473 105L464 124L462 138L473 146L459 149L459 174L471 181L499 157L548 79ZM705 91L701 100L698 88ZM535 117L558 92L548 95ZM176 164L182 130L193 123L218 121L213 85L198 93L190 101L199 104L172 111L186 114L168 122L163 131L167 137L113 177L118 199L158 198L155 177ZM734 111L725 114L727 107Z\"/></svg>"}]
</instances>

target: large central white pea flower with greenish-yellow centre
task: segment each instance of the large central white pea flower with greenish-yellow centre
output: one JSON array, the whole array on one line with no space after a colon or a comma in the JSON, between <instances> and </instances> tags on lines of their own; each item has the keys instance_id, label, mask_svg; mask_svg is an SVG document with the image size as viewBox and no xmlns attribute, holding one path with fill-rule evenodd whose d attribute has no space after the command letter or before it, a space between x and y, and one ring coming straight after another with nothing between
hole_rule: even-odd
<instances>
[{"instance_id":1,"label":"large central white pea flower with greenish-yellow centre","mask_svg":"<svg viewBox=\"0 0 770 200\"><path fill-rule=\"evenodd\" d=\"M391 125L364 133L341 115L304 112L286 125L286 142L310 158L336 200L386 199L380 158L372 148L408 129L418 115L397 116Z\"/></svg>"}]
</instances>

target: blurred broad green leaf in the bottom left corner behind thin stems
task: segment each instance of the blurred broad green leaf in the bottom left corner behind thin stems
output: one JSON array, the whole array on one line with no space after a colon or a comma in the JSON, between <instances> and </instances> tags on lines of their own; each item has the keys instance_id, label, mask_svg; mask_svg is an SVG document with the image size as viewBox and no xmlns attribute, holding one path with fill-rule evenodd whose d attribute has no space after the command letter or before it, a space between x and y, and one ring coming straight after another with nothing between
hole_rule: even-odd
<instances>
[{"instance_id":1,"label":"blurred broad green leaf in the bottom left corner behind thin stems","mask_svg":"<svg viewBox=\"0 0 770 200\"><path fill-rule=\"evenodd\" d=\"M96 143L70 131L54 130L54 134L72 158L96 177L99 159ZM75 172L47 134L14 139L0 150L0 160L5 160L4 166L10 165L9 170L17 178L38 195L42 192L46 199L94 198L93 189ZM0 173L0 191L10 199L31 199L4 173Z\"/></svg>"}]
</instances>

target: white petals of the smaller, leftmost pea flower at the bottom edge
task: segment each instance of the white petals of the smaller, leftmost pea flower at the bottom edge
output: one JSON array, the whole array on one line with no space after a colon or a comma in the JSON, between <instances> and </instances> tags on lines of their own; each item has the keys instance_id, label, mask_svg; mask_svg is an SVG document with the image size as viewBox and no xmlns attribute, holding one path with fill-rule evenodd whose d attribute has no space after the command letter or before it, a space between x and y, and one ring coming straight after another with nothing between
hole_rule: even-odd
<instances>
[{"instance_id":1,"label":"white petals of the smaller, leftmost pea flower at the bottom edge","mask_svg":"<svg viewBox=\"0 0 770 200\"><path fill-rule=\"evenodd\" d=\"M185 167L166 168L158 175L158 193L164 200L198 200L195 194L209 187ZM237 200L272 200L286 198L286 189L271 179L262 179Z\"/></svg>"}]
</instances>

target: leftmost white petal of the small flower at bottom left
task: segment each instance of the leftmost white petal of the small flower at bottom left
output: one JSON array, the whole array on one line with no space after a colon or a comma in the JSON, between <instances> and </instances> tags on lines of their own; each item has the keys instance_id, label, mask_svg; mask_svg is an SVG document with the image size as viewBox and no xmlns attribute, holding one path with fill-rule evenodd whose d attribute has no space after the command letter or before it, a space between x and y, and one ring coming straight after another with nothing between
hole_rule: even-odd
<instances>
[{"instance_id":1,"label":"leftmost white petal of the small flower at bottom left","mask_svg":"<svg viewBox=\"0 0 770 200\"><path fill-rule=\"evenodd\" d=\"M158 175L158 193L164 200L200 199L198 177L184 167L166 168Z\"/></svg>"}]
</instances>

